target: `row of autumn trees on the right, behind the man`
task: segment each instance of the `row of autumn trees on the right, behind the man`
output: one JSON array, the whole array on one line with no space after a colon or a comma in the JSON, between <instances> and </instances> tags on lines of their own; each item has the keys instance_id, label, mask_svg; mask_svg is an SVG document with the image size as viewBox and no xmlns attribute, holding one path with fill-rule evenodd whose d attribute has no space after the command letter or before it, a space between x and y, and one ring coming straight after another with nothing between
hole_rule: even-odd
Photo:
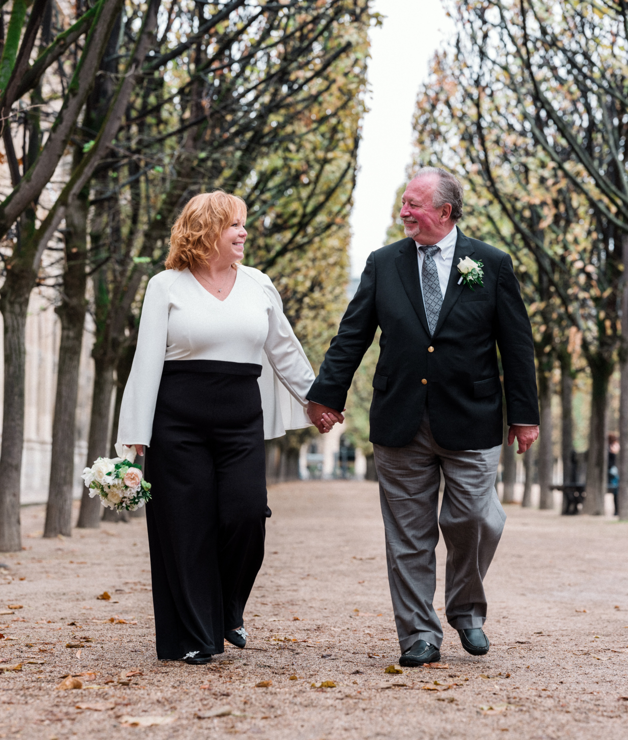
<instances>
[{"instance_id":1,"label":"row of autumn trees on the right, behind the man","mask_svg":"<svg viewBox=\"0 0 628 740\"><path fill-rule=\"evenodd\" d=\"M572 388L592 411L585 511L607 490L607 408L621 368L620 514L628 517L628 16L623 1L482 0L449 7L456 38L419 91L415 159L465 184L465 228L507 249L530 310L538 363L541 508L552 506L552 376L561 369L570 480Z\"/></svg>"}]
</instances>

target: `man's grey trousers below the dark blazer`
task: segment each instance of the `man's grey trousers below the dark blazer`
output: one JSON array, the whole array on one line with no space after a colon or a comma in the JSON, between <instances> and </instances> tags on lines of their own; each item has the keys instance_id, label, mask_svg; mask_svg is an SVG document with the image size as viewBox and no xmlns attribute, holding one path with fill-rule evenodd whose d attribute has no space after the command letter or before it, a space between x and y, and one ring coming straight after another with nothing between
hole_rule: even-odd
<instances>
[{"instance_id":1,"label":"man's grey trousers below the dark blazer","mask_svg":"<svg viewBox=\"0 0 628 740\"><path fill-rule=\"evenodd\" d=\"M442 626L432 603L439 524L447 545L445 615L456 630L482 627L482 581L506 521L495 490L502 445L445 450L425 413L409 445L373 447L399 645L403 652L423 639L440 647ZM438 517L440 468L445 494Z\"/></svg>"}]
</instances>

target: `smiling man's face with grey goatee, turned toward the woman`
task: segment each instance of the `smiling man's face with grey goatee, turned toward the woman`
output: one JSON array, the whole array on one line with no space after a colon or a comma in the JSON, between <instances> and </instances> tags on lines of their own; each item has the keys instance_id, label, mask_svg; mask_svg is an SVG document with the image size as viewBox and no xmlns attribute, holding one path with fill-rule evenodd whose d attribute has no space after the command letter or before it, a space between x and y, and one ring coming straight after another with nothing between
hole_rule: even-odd
<instances>
[{"instance_id":1,"label":"smiling man's face with grey goatee, turned toward the woman","mask_svg":"<svg viewBox=\"0 0 628 740\"><path fill-rule=\"evenodd\" d=\"M445 203L439 209L432 205L436 177L411 180L402 195L399 212L404 223L405 235L421 244L434 244L451 231L451 206Z\"/></svg>"}]
</instances>

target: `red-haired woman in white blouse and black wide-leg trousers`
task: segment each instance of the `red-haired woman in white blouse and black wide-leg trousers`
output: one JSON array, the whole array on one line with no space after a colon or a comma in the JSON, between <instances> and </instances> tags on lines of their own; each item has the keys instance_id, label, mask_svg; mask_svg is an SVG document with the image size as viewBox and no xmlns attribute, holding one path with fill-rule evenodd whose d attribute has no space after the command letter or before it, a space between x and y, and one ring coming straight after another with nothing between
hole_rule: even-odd
<instances>
[{"instance_id":1,"label":"red-haired woman in white blouse and black wide-leg trousers","mask_svg":"<svg viewBox=\"0 0 628 740\"><path fill-rule=\"evenodd\" d=\"M224 639L246 644L271 516L264 438L310 424L310 363L269 277L239 263L245 218L244 201L221 191L187 203L146 288L122 400L118 441L146 445L152 483L159 659L207 663Z\"/></svg>"}]
</instances>

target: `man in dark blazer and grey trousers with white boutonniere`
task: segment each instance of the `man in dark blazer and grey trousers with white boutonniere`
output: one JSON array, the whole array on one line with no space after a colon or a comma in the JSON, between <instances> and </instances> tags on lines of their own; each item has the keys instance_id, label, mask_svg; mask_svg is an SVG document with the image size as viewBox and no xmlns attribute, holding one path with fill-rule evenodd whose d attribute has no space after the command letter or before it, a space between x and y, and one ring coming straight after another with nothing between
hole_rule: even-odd
<instances>
[{"instance_id":1,"label":"man in dark blazer and grey trousers with white boutonniere","mask_svg":"<svg viewBox=\"0 0 628 740\"><path fill-rule=\"evenodd\" d=\"M405 666L440 659L432 605L439 524L448 622L468 653L489 649L482 581L506 519L495 490L503 423L496 346L508 443L516 437L521 454L538 436L532 330L513 263L457 229L462 195L443 169L424 167L408 184L400 214L408 238L371 253L308 394L320 431L342 422L354 372L380 327L371 442Z\"/></svg>"}]
</instances>

